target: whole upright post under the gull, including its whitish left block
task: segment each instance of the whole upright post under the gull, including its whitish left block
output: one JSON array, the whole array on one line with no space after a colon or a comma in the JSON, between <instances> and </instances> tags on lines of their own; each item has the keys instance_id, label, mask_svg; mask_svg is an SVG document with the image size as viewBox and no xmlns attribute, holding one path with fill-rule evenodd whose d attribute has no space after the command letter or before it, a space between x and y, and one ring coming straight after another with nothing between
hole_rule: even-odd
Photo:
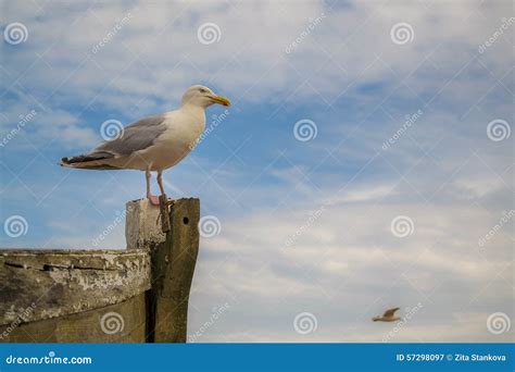
<instances>
[{"instance_id":1,"label":"whole upright post under the gull, including its whitish left block","mask_svg":"<svg viewBox=\"0 0 515 372\"><path fill-rule=\"evenodd\" d=\"M174 201L166 233L158 223L160 210L147 201L128 203L127 210L134 215L127 214L127 247L143 247L151 253L147 340L186 343L189 292L199 252L200 201ZM131 222L135 224L129 225Z\"/></svg>"}]
</instances>

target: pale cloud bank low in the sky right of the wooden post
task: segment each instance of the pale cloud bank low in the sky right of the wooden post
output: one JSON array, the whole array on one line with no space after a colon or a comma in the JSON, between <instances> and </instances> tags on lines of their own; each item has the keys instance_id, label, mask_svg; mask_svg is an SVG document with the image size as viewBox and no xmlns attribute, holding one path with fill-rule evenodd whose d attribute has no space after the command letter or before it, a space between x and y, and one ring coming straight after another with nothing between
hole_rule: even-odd
<instances>
[{"instance_id":1,"label":"pale cloud bank low in the sky right of the wooden post","mask_svg":"<svg viewBox=\"0 0 515 372\"><path fill-rule=\"evenodd\" d=\"M202 308L214 298L230 296L236 305L231 321L219 324L203 339L380 342L384 333L377 328L385 327L369 326L373 312L380 312L388 305L405 309L419 300L431 309L420 311L417 322L406 324L392 340L508 339L508 334L493 337L485 326L488 312L512 309L513 263L504 259L505 253L510 255L510 245L498 243L491 250L481 251L476 243L476 235L489 228L489 213L463 204L428 208L424 203L392 206L386 201L374 207L375 202L372 199L357 206L344 202L328 207L299 241L286 249L284 239L304 222L309 211L225 220L221 236L202 240L202 252L208 256L201 253L191 300ZM390 233L395 210L415 221L412 236L397 238ZM326 231L331 233L329 238ZM497 295L487 287L497 288ZM256 303L262 305L258 314L253 309ZM469 319L466 324L454 319L454 313L478 309L478 303L486 310L481 318ZM326 324L310 338L289 330L289 324L276 325L278 332L259 320L275 315L276 321L284 321L306 307L323 311L318 322ZM244 322L244 314L253 314L258 324ZM199 321L193 312L193 326ZM363 332L343 328L352 323ZM233 328L244 333L231 333Z\"/></svg>"}]
</instances>

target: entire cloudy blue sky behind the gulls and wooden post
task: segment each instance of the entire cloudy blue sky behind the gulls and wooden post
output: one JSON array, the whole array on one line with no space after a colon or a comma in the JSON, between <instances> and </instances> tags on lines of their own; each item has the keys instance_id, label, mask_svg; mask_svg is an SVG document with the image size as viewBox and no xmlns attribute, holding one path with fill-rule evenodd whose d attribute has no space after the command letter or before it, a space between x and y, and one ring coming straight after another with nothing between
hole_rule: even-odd
<instances>
[{"instance_id":1,"label":"entire cloudy blue sky behind the gulls and wooden post","mask_svg":"<svg viewBox=\"0 0 515 372\"><path fill-rule=\"evenodd\" d=\"M104 121L173 110L204 84L234 104L165 173L169 196L221 222L201 241L190 332L228 308L197 342L381 342L392 325L369 319L418 303L391 340L513 337L487 326L514 314L513 216L500 222L514 208L510 1L1 7L2 29L22 23L26 40L0 46L0 218L27 222L2 247L93 248L145 177L59 159L92 148ZM296 138L301 120L316 137ZM124 248L123 233L99 247ZM305 312L317 326L302 334Z\"/></svg>"}]
</instances>

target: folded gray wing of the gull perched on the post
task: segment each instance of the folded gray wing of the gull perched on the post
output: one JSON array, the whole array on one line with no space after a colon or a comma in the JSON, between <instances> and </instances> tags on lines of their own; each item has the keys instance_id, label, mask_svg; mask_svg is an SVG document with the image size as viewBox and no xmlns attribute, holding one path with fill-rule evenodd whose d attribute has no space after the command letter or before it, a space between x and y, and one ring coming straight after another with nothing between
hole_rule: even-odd
<instances>
[{"instance_id":1,"label":"folded gray wing of the gull perched on the post","mask_svg":"<svg viewBox=\"0 0 515 372\"><path fill-rule=\"evenodd\" d=\"M92 153L110 152L113 156L128 156L145 150L166 131L164 115L141 119L124 128L123 135L111 141L103 141Z\"/></svg>"}]
</instances>

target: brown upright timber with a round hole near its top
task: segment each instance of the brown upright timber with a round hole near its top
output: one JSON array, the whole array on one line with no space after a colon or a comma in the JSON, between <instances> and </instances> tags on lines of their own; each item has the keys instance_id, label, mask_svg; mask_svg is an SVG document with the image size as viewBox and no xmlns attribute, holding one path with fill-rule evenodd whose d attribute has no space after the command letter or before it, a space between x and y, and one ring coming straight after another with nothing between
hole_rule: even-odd
<instances>
[{"instance_id":1,"label":"brown upright timber with a round hole near its top","mask_svg":"<svg viewBox=\"0 0 515 372\"><path fill-rule=\"evenodd\" d=\"M186 343L189 292L199 252L199 199L174 201L166 240L151 253L148 342Z\"/></svg>"}]
</instances>

